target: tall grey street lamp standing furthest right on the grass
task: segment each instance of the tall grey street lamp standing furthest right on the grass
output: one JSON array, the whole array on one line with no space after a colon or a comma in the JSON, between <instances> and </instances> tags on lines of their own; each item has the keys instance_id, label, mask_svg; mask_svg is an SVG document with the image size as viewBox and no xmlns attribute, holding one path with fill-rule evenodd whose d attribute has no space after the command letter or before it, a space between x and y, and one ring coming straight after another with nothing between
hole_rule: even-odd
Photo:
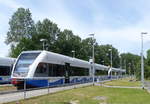
<instances>
[{"instance_id":1,"label":"tall grey street lamp standing furthest right on the grass","mask_svg":"<svg viewBox=\"0 0 150 104\"><path fill-rule=\"evenodd\" d=\"M148 34L147 32L141 32L141 82L142 88L144 89L144 59L143 59L143 35Z\"/></svg>"}]
</instances>

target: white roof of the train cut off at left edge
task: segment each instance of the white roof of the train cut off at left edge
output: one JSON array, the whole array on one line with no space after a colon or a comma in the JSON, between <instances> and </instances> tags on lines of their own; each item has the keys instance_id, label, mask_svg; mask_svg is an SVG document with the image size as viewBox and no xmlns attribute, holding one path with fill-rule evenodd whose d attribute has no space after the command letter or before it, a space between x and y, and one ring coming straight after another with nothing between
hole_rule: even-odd
<instances>
[{"instance_id":1,"label":"white roof of the train cut off at left edge","mask_svg":"<svg viewBox=\"0 0 150 104\"><path fill-rule=\"evenodd\" d=\"M11 66L15 62L15 58L0 57L0 66Z\"/></svg>"}]
</instances>

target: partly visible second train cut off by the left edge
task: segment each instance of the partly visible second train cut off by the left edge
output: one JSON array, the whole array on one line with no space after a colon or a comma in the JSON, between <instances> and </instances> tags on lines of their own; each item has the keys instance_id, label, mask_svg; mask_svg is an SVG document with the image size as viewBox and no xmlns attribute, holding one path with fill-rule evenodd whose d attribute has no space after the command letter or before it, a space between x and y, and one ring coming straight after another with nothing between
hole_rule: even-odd
<instances>
[{"instance_id":1,"label":"partly visible second train cut off by the left edge","mask_svg":"<svg viewBox=\"0 0 150 104\"><path fill-rule=\"evenodd\" d=\"M15 58L0 57L0 84L11 83L10 76L15 60Z\"/></svg>"}]
</instances>

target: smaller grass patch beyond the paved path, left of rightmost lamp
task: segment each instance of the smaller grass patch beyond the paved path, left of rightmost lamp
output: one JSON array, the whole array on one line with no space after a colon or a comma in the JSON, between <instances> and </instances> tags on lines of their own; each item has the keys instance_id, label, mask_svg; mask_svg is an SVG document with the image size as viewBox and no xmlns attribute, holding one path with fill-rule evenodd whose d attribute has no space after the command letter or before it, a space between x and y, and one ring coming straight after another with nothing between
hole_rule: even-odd
<instances>
[{"instance_id":1,"label":"smaller grass patch beyond the paved path, left of rightmost lamp","mask_svg":"<svg viewBox=\"0 0 150 104\"><path fill-rule=\"evenodd\" d=\"M104 82L104 84L109 85L109 86L128 86L128 87L140 87L141 86L140 81L136 81L136 80L131 81L130 78L108 81L108 82Z\"/></svg>"}]
</instances>

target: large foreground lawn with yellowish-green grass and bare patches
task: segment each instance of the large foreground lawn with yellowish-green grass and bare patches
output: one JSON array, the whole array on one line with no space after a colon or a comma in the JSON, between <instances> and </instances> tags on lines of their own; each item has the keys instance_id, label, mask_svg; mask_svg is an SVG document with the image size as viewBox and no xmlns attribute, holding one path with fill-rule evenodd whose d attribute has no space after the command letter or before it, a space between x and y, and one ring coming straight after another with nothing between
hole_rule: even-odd
<instances>
[{"instance_id":1,"label":"large foreground lawn with yellowish-green grass and bare patches","mask_svg":"<svg viewBox=\"0 0 150 104\"><path fill-rule=\"evenodd\" d=\"M17 104L149 104L149 98L150 94L142 89L89 86L21 100Z\"/></svg>"}]
</instances>

